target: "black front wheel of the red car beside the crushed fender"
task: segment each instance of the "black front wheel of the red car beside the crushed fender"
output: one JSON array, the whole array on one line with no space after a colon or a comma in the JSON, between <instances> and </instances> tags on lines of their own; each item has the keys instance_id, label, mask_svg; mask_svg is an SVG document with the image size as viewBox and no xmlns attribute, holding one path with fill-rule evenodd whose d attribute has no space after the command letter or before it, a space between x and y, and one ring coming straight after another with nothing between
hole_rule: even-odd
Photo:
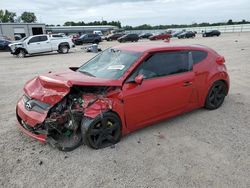
<instances>
[{"instance_id":1,"label":"black front wheel of the red car beside the crushed fender","mask_svg":"<svg viewBox=\"0 0 250 188\"><path fill-rule=\"evenodd\" d=\"M111 146L121 139L121 121L112 112L83 119L81 130L83 142L94 149Z\"/></svg>"}]
</instances>

